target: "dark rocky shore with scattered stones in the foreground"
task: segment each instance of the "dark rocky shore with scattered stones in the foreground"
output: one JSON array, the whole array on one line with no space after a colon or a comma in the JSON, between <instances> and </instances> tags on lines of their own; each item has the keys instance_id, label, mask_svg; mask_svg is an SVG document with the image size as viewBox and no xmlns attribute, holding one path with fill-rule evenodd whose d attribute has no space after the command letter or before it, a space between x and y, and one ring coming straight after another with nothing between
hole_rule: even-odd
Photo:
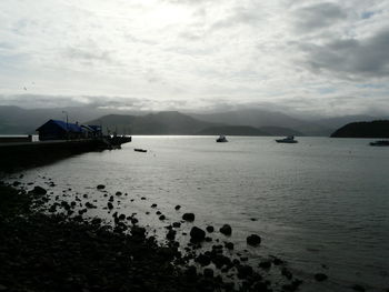
<instances>
[{"instance_id":1,"label":"dark rocky shore with scattered stones in the foreground","mask_svg":"<svg viewBox=\"0 0 389 292\"><path fill-rule=\"evenodd\" d=\"M296 291L302 284L276 256L252 266L246 256L228 255L232 242L216 240L210 250L201 249L212 242L213 226L193 225L190 242L180 246L176 234L194 220L192 213L167 226L161 245L134 215L114 212L114 223L104 224L83 217L96 208L90 202L80 209L59 198L52 202L41 187L17 187L0 185L0 291ZM226 224L219 232L228 236L232 229ZM247 239L251 246L260 242L257 234ZM280 275L277 282L268 276L271 269Z\"/></svg>"}]
</instances>

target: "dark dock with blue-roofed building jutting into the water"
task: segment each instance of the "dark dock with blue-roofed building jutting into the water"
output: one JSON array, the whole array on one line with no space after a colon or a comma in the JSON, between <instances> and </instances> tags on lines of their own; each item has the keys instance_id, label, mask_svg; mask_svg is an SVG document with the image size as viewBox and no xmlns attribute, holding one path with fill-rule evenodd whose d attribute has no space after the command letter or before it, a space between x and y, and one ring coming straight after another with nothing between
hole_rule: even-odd
<instances>
[{"instance_id":1,"label":"dark dock with blue-roofed building jutting into the water","mask_svg":"<svg viewBox=\"0 0 389 292\"><path fill-rule=\"evenodd\" d=\"M49 120L32 135L0 137L0 172L47 164L73 154L120 149L129 135L103 135L101 125L83 125ZM37 137L36 137L37 138Z\"/></svg>"}]
</instances>

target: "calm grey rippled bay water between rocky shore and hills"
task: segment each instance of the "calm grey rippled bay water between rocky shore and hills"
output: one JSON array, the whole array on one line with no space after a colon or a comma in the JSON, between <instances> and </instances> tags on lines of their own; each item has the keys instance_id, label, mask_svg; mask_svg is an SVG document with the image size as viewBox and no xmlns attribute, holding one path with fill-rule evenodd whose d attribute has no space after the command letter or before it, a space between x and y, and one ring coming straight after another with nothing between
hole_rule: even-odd
<instances>
[{"instance_id":1,"label":"calm grey rippled bay water between rocky shore and hills","mask_svg":"<svg viewBox=\"0 0 389 292\"><path fill-rule=\"evenodd\" d=\"M71 188L69 197L88 193L101 205L107 198L97 184L112 194L127 192L120 212L138 213L157 233L186 211L196 213L200 226L231 224L229 240L238 249L247 248L248 234L258 233L262 244L248 251L252 261L268 254L286 259L306 280L302 291L348 291L356 283L372 291L389 288L389 148L358 139L299 138L298 144L277 144L273 138L229 140L134 137L122 150L63 160L26 172L23 180L51 178L54 194ZM153 212L144 214L151 203L167 222ZM180 212L176 204L182 205ZM107 211L94 214L107 217ZM316 272L327 273L329 281L316 286Z\"/></svg>"}]
</instances>

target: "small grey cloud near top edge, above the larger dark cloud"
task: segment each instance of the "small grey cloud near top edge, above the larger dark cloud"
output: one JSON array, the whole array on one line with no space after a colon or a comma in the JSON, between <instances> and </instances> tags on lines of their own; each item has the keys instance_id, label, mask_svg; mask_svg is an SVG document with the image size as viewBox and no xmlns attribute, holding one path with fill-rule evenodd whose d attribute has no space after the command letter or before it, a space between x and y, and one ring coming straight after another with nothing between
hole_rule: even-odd
<instances>
[{"instance_id":1,"label":"small grey cloud near top edge, above the larger dark cloud","mask_svg":"<svg viewBox=\"0 0 389 292\"><path fill-rule=\"evenodd\" d=\"M346 19L347 13L336 3L325 2L296 11L296 28L300 31L311 31L327 28L336 22Z\"/></svg>"}]
</instances>

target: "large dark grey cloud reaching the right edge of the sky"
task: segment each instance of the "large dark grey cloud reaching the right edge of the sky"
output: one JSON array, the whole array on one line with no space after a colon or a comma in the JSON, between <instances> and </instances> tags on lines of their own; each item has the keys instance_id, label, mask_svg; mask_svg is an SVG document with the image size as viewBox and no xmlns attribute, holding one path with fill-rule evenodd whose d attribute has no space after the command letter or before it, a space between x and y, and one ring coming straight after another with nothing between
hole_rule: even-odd
<instances>
[{"instance_id":1,"label":"large dark grey cloud reaching the right edge of the sky","mask_svg":"<svg viewBox=\"0 0 389 292\"><path fill-rule=\"evenodd\" d=\"M312 72L330 71L343 79L389 75L389 31L357 40L333 40L318 46L303 43L305 66Z\"/></svg>"}]
</instances>

